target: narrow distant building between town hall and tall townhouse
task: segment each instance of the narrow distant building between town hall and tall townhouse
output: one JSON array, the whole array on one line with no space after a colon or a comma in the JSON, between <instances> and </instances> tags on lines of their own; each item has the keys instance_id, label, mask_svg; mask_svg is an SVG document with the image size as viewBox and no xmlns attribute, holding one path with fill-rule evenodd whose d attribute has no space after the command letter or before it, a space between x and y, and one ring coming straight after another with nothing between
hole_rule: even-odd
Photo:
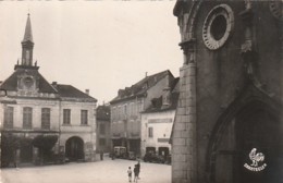
<instances>
[{"instance_id":1,"label":"narrow distant building between town hall and tall townhouse","mask_svg":"<svg viewBox=\"0 0 283 183\"><path fill-rule=\"evenodd\" d=\"M111 152L110 105L97 107L97 151Z\"/></svg>"}]
</instances>

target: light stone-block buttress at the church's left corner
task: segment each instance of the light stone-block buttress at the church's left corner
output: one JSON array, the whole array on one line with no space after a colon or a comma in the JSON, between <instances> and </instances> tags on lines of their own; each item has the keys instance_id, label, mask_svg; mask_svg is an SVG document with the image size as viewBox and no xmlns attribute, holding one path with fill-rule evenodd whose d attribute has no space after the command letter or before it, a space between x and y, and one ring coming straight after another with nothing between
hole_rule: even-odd
<instances>
[{"instance_id":1,"label":"light stone-block buttress at the church's left corner","mask_svg":"<svg viewBox=\"0 0 283 183\"><path fill-rule=\"evenodd\" d=\"M172 182L194 182L196 170L196 64L180 70L180 98L172 141Z\"/></svg>"}]
</instances>

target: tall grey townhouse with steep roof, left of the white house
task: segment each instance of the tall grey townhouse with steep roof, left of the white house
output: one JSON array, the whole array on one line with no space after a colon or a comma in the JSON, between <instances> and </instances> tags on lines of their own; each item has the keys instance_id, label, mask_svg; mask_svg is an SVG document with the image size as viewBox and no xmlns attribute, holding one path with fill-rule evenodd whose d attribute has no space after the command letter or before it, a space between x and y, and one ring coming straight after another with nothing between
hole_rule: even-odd
<instances>
[{"instance_id":1,"label":"tall grey townhouse with steep roof, left of the white house","mask_svg":"<svg viewBox=\"0 0 283 183\"><path fill-rule=\"evenodd\" d=\"M127 151L140 156L142 117L152 98L162 94L167 80L173 80L170 71L146 76L138 83L120 89L111 105L112 145L124 146Z\"/></svg>"}]
</instances>

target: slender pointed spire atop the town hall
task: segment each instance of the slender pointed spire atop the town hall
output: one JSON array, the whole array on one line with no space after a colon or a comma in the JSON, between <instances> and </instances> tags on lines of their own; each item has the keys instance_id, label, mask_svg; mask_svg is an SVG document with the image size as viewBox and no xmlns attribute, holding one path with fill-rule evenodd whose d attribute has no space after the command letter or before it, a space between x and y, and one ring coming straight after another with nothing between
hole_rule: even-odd
<instances>
[{"instance_id":1,"label":"slender pointed spire atop the town hall","mask_svg":"<svg viewBox=\"0 0 283 183\"><path fill-rule=\"evenodd\" d=\"M34 40L33 40L30 17L28 13L26 26L25 26L25 35L22 41L22 65L33 66L33 49L34 49Z\"/></svg>"}]
</instances>

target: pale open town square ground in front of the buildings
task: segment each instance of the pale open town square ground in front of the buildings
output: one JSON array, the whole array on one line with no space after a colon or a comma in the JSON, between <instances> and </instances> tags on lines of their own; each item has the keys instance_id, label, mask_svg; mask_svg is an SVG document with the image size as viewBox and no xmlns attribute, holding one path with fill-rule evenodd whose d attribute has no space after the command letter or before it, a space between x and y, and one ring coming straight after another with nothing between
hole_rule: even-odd
<instances>
[{"instance_id":1,"label":"pale open town square ground in front of the buildings","mask_svg":"<svg viewBox=\"0 0 283 183\"><path fill-rule=\"evenodd\" d=\"M127 168L137 161L103 161L1 169L0 183L127 183ZM138 183L170 183L171 166L140 161Z\"/></svg>"}]
</instances>

